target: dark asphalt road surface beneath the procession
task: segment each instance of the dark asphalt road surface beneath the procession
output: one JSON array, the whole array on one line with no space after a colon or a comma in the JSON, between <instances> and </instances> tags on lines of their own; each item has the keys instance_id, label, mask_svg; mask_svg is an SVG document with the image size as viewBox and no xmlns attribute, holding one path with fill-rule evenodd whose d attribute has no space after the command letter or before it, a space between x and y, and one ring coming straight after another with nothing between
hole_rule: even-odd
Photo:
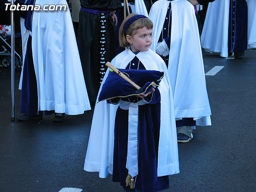
<instances>
[{"instance_id":1,"label":"dark asphalt road surface beneath the procession","mask_svg":"<svg viewBox=\"0 0 256 192\"><path fill-rule=\"evenodd\" d=\"M212 126L193 131L178 144L180 173L166 192L252 192L256 187L256 50L225 59L204 52ZM15 114L19 114L20 70L16 71ZM119 183L83 170L93 110L41 121L11 122L10 68L0 66L0 192L121 192ZM71 190L70 190L71 191ZM77 190L78 191L78 190Z\"/></svg>"}]
</instances>

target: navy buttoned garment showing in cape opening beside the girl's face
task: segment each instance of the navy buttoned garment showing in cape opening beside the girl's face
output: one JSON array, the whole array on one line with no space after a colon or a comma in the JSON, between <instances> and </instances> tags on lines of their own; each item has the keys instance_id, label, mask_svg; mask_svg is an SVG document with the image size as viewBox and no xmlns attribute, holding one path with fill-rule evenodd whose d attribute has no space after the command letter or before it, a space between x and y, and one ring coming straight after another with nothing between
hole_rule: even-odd
<instances>
[{"instance_id":1,"label":"navy buttoned garment showing in cape opening beside the girl's face","mask_svg":"<svg viewBox=\"0 0 256 192\"><path fill-rule=\"evenodd\" d=\"M162 28L162 32L160 34L158 42L162 42L162 40L164 40L164 38L167 38L168 36L171 35L171 28L172 28L172 11L171 10L172 10L171 9L171 3L169 3L168 10L167 10L167 13L166 13L166 17L165 17L165 20L164 20L164 26ZM168 45L168 47L170 49L170 45ZM168 67L169 56L164 57L164 56L160 55L160 57L164 60L166 66Z\"/></svg>"}]
</instances>

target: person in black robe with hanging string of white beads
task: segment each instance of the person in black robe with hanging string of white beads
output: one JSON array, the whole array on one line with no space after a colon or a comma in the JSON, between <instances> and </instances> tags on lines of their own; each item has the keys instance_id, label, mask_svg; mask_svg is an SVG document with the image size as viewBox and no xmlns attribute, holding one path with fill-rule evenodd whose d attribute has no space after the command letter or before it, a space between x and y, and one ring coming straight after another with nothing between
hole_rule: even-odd
<instances>
[{"instance_id":1,"label":"person in black robe with hanging string of white beads","mask_svg":"<svg viewBox=\"0 0 256 192\"><path fill-rule=\"evenodd\" d=\"M80 0L80 3L78 50L89 100L95 103L106 73L105 64L116 56L114 12L122 4L121 0Z\"/></svg>"}]
</instances>

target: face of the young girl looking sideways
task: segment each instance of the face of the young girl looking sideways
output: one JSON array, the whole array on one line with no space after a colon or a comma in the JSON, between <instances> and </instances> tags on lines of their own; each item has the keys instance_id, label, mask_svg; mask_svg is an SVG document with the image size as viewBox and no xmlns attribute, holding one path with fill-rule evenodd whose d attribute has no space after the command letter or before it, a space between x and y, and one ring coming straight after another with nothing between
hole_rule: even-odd
<instances>
[{"instance_id":1,"label":"face of the young girl looking sideways","mask_svg":"<svg viewBox=\"0 0 256 192\"><path fill-rule=\"evenodd\" d=\"M148 51L152 44L152 29L146 27L137 29L133 36L126 36L126 40L130 43L132 52Z\"/></svg>"}]
</instances>

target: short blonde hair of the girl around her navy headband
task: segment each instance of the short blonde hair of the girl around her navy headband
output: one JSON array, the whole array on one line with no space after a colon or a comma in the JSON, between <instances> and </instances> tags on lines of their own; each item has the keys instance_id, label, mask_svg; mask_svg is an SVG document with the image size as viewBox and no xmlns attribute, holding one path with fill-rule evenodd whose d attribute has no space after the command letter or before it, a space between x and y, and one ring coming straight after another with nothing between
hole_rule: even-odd
<instances>
[{"instance_id":1,"label":"short blonde hair of the girl around her navy headband","mask_svg":"<svg viewBox=\"0 0 256 192\"><path fill-rule=\"evenodd\" d=\"M128 43L128 41L126 40L126 35L129 36L133 36L135 30L137 29L142 29L144 27L148 28L148 29L152 29L153 28L153 23L151 20L149 20L148 18L140 18L138 20L135 20L134 22L132 22L130 24L130 26L126 29L126 32L124 34L124 24L126 23L126 21L130 18L132 18L133 16L136 16L138 14L136 13L131 13L129 14L122 22L120 28L119 28L119 44L121 47L129 47L130 44Z\"/></svg>"}]
</instances>

